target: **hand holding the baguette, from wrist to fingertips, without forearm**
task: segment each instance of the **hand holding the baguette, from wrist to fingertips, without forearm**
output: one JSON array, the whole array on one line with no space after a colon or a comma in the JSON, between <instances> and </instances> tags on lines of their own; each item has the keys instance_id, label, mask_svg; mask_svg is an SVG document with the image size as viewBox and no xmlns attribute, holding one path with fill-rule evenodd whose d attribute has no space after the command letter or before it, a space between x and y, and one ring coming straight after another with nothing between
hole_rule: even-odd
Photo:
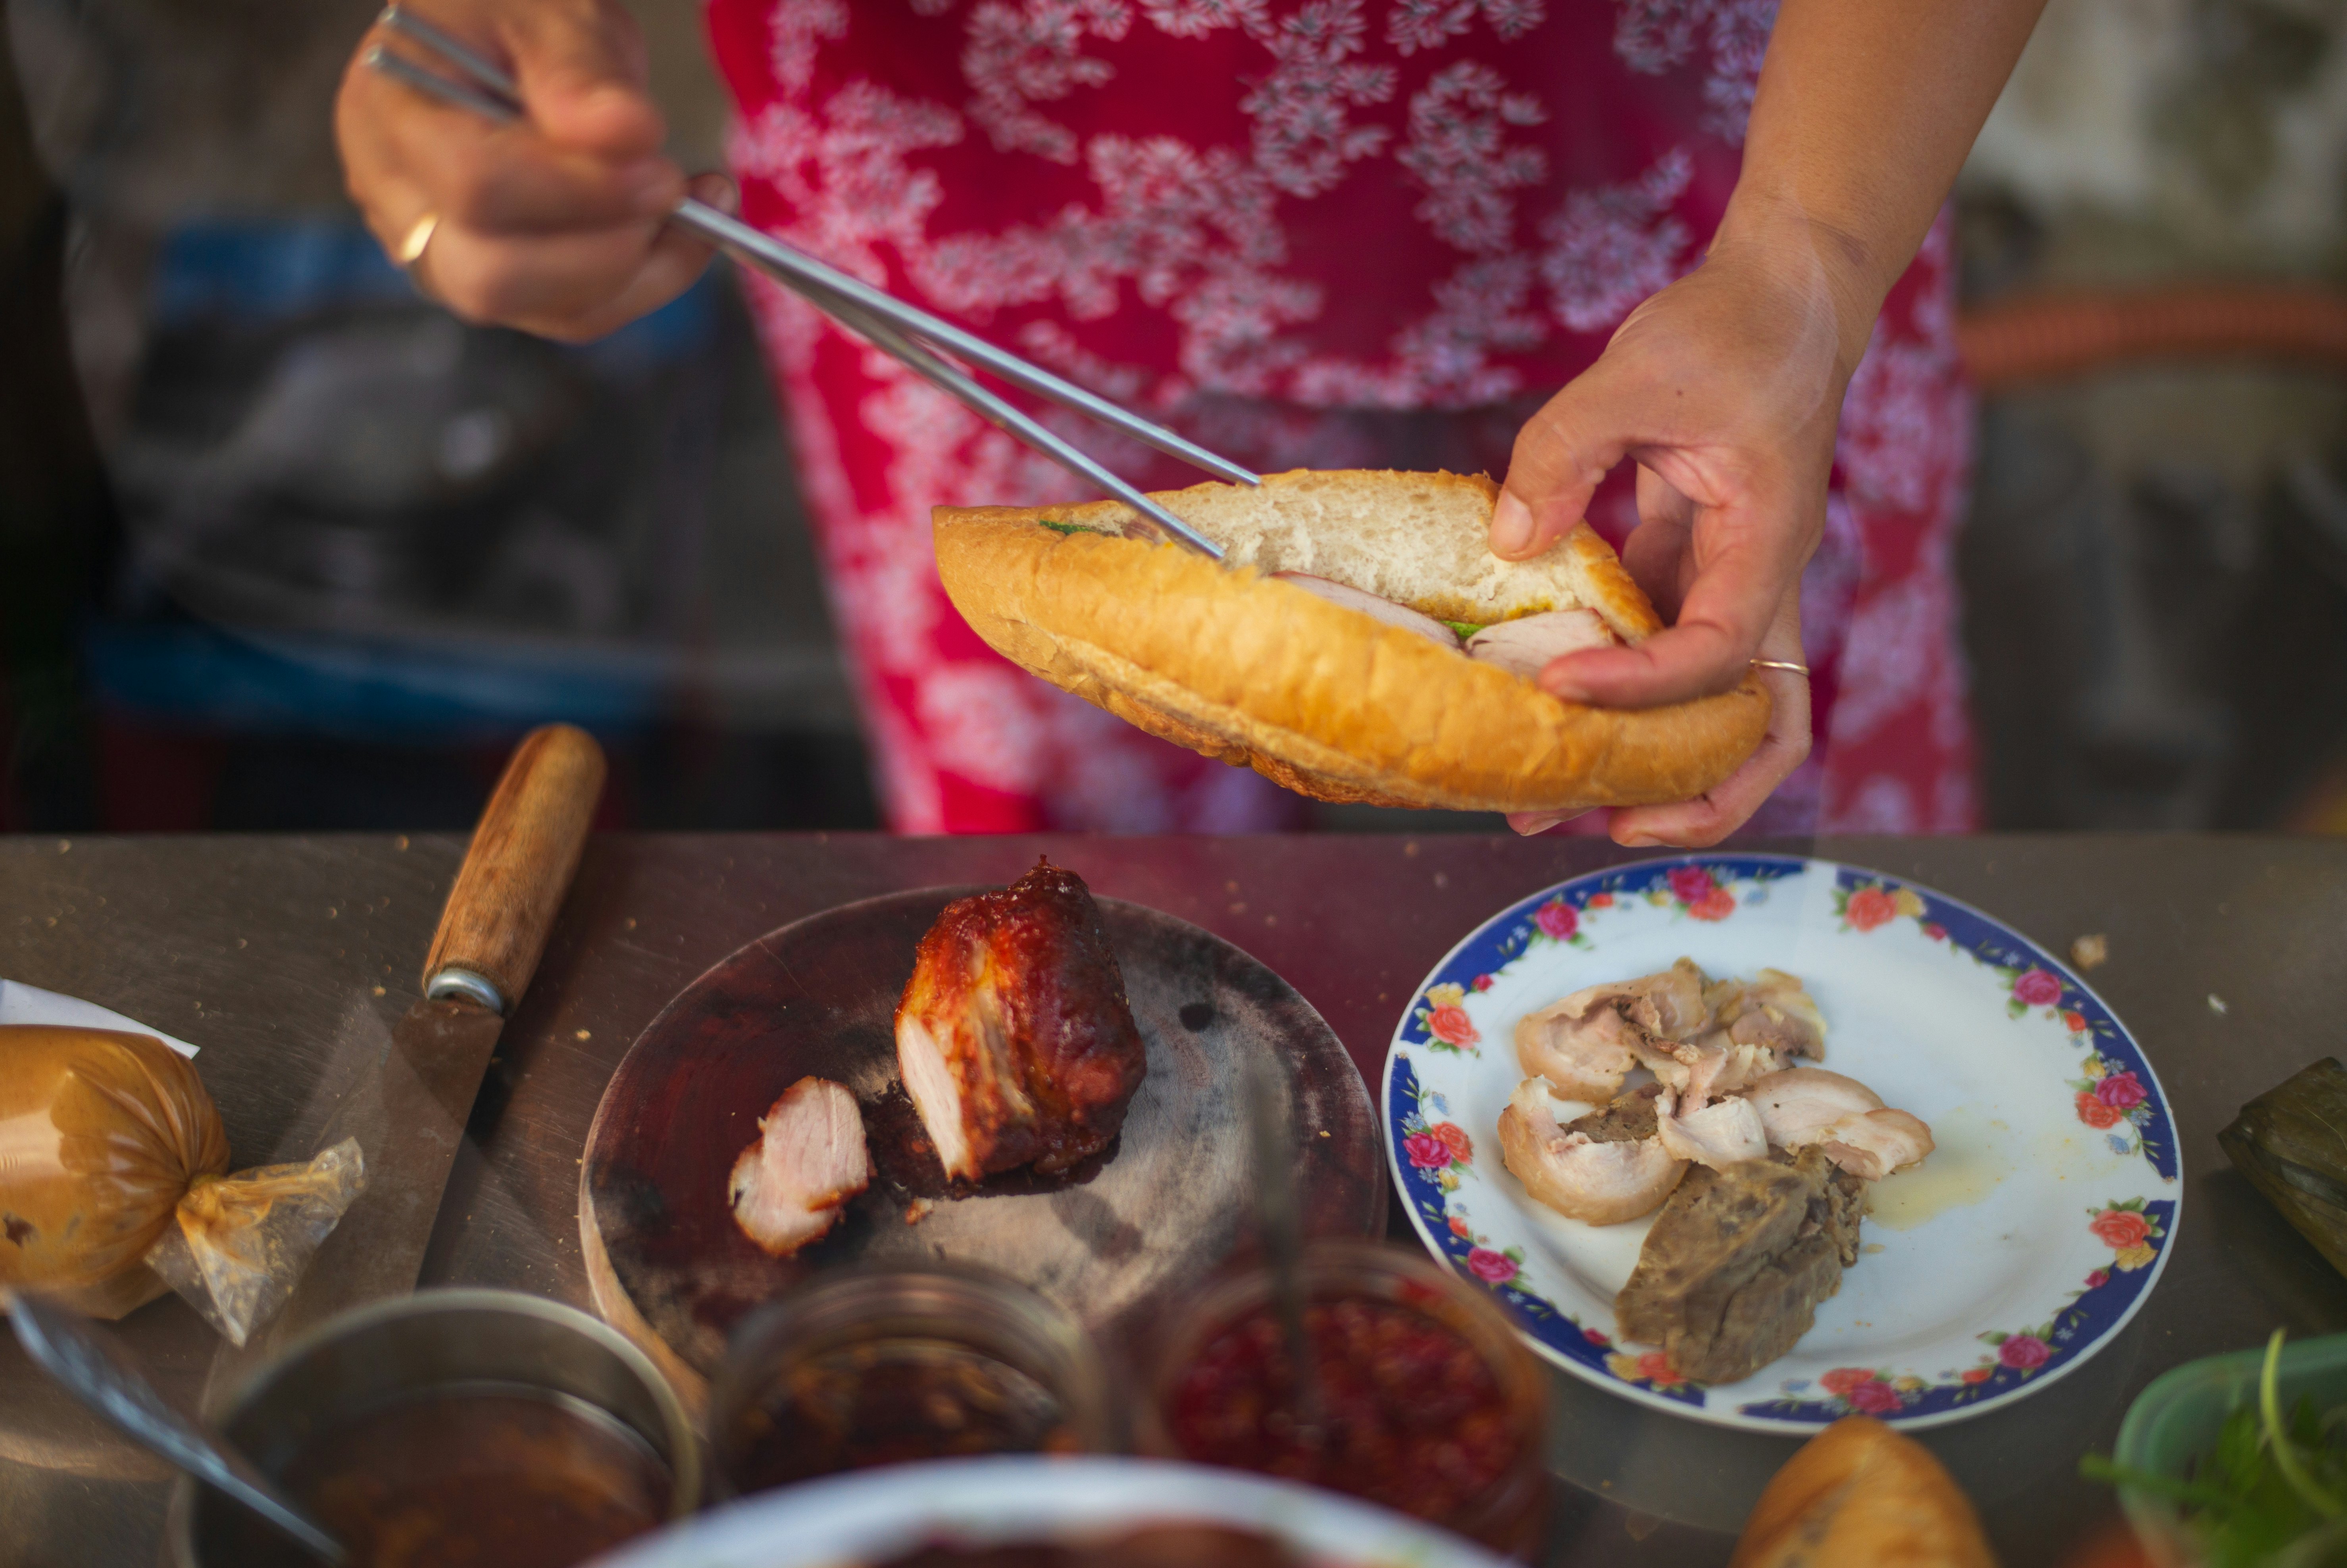
<instances>
[{"instance_id":1,"label":"hand holding the baguette, from wrist to fingertips, without forearm","mask_svg":"<svg viewBox=\"0 0 2347 1568\"><path fill-rule=\"evenodd\" d=\"M1540 671L1547 690L1657 707L1727 690L1756 657L1802 662L1800 568L1826 526L1842 390L1875 303L1835 237L1732 209L1704 265L1638 305L1533 415L1493 512L1493 552L1554 545L1629 458L1638 528L1622 561L1671 622L1636 648L1556 660ZM1810 756L1807 681L1758 674L1774 702L1760 749L1697 800L1617 812L1617 843L1718 843ZM1509 822L1537 833L1561 817Z\"/></svg>"}]
</instances>

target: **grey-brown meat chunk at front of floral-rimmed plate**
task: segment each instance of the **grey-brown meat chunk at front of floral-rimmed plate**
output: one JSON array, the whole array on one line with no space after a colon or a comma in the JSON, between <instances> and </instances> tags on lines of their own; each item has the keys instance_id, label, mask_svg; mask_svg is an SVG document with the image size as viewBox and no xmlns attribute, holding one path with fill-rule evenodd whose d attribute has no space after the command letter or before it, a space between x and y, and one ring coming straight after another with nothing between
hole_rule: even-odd
<instances>
[{"instance_id":1,"label":"grey-brown meat chunk at front of floral-rimmed plate","mask_svg":"<svg viewBox=\"0 0 2347 1568\"><path fill-rule=\"evenodd\" d=\"M1697 1383L1741 1383L1810 1331L1859 1261L1866 1183L1821 1150L1695 1167L1615 1298L1624 1340Z\"/></svg>"}]
</instances>

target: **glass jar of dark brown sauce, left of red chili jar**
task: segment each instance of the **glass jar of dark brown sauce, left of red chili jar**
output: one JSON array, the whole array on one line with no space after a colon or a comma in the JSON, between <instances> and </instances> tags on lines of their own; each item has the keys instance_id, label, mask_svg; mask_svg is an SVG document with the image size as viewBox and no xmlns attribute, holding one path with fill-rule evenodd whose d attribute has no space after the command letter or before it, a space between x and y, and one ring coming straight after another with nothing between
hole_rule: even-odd
<instances>
[{"instance_id":1,"label":"glass jar of dark brown sauce, left of red chili jar","mask_svg":"<svg viewBox=\"0 0 2347 1568\"><path fill-rule=\"evenodd\" d=\"M1110 1453L1108 1371L1061 1307L1000 1275L828 1275L749 1319L711 1390L732 1495L871 1465Z\"/></svg>"}]
</instances>

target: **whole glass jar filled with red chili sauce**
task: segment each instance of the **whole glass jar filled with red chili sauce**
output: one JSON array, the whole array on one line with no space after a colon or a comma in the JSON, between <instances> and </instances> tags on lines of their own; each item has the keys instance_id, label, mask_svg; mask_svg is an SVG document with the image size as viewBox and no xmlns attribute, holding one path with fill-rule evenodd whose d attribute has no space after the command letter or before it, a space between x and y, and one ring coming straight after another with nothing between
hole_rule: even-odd
<instances>
[{"instance_id":1,"label":"whole glass jar filled with red chili sauce","mask_svg":"<svg viewBox=\"0 0 2347 1568\"><path fill-rule=\"evenodd\" d=\"M1549 1383L1507 1314L1399 1246L1314 1242L1298 1270L1321 1422L1298 1413L1272 1279L1253 1268L1211 1284L1174 1324L1143 1444L1530 1554L1547 1519Z\"/></svg>"}]
</instances>

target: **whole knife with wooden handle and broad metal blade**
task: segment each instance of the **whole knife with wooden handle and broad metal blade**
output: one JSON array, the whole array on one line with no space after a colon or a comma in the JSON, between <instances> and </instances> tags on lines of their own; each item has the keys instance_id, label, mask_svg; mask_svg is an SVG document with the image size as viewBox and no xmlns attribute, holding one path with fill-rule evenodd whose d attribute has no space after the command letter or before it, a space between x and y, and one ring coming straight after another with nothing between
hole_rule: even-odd
<instances>
[{"instance_id":1,"label":"whole knife with wooden handle and broad metal blade","mask_svg":"<svg viewBox=\"0 0 2347 1568\"><path fill-rule=\"evenodd\" d=\"M277 1345L345 1307L415 1289L481 1075L547 951L601 793L603 749L570 725L533 730L505 765L432 937L425 998L392 1026L319 1138L319 1148L359 1141L366 1192L256 1340Z\"/></svg>"}]
</instances>

